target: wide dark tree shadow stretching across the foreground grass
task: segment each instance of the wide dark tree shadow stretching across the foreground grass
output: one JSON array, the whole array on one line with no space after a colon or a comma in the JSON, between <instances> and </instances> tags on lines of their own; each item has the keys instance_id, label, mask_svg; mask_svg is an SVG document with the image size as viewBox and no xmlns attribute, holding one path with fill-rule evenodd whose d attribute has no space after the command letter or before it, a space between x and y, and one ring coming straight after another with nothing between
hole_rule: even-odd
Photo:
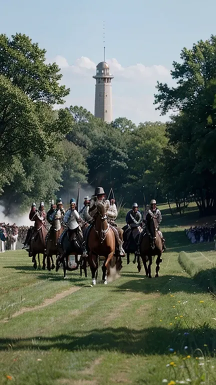
<instances>
[{"instance_id":1,"label":"wide dark tree shadow stretching across the foreground grass","mask_svg":"<svg viewBox=\"0 0 216 385\"><path fill-rule=\"evenodd\" d=\"M143 320L144 324L144 320ZM32 341L37 341L35 345ZM185 351L184 346L188 346ZM205 347L205 345L207 345ZM188 354L197 348L213 355L216 347L215 329L202 325L196 329L176 326L174 329L150 327L141 330L119 328L83 329L71 333L62 333L53 337L31 336L28 338L1 338L0 350L95 350L118 351L128 354L168 354L168 348ZM196 354L198 355L198 354Z\"/></svg>"}]
</instances>

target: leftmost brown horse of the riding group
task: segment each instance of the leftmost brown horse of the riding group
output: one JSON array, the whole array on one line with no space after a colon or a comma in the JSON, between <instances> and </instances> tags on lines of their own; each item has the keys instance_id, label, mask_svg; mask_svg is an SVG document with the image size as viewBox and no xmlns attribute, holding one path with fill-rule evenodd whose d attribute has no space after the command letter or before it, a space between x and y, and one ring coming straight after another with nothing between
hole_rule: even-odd
<instances>
[{"instance_id":1,"label":"leftmost brown horse of the riding group","mask_svg":"<svg viewBox=\"0 0 216 385\"><path fill-rule=\"evenodd\" d=\"M30 246L30 251L32 255L33 268L36 269L37 267L36 255L38 255L39 267L40 267L39 254L43 255L43 264L45 263L44 261L46 256L44 253L44 247L45 247L45 237L48 231L45 228L43 219L38 215L34 207L30 211L29 219L31 221L34 221L34 233L30 240L29 246Z\"/></svg>"}]
</instances>

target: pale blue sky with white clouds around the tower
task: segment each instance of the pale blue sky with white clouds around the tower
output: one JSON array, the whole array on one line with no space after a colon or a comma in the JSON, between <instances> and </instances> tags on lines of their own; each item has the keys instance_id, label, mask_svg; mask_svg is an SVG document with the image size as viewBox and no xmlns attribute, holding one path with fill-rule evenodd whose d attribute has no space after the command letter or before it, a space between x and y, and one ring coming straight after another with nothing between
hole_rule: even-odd
<instances>
[{"instance_id":1,"label":"pale blue sky with white clouds around the tower","mask_svg":"<svg viewBox=\"0 0 216 385\"><path fill-rule=\"evenodd\" d=\"M95 66L106 61L113 119L165 121L155 111L156 82L173 85L173 61L183 47L216 33L215 0L0 0L0 33L28 35L61 68L70 88L65 106L94 112Z\"/></svg>"}]
</instances>

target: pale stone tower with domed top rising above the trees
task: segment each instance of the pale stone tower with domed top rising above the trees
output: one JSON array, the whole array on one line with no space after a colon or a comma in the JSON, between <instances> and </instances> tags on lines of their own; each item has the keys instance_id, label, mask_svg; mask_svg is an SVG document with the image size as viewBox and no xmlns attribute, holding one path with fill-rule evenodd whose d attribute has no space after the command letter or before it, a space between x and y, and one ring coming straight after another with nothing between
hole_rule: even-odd
<instances>
[{"instance_id":1,"label":"pale stone tower with domed top rising above the trees","mask_svg":"<svg viewBox=\"0 0 216 385\"><path fill-rule=\"evenodd\" d=\"M111 79L113 76L109 74L109 66L105 61L97 64L96 75L93 78L96 79L94 116L110 123L112 121Z\"/></svg>"}]
</instances>

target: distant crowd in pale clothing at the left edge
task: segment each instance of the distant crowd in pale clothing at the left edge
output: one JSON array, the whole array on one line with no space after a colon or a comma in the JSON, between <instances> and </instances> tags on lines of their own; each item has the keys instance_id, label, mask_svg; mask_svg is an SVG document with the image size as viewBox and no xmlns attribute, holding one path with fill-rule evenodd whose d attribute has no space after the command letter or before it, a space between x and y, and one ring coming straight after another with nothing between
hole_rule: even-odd
<instances>
[{"instance_id":1,"label":"distant crowd in pale clothing at the left edge","mask_svg":"<svg viewBox=\"0 0 216 385\"><path fill-rule=\"evenodd\" d=\"M14 223L0 223L0 252L16 250L17 242L23 243L27 234L27 226L16 226Z\"/></svg>"}]
</instances>

